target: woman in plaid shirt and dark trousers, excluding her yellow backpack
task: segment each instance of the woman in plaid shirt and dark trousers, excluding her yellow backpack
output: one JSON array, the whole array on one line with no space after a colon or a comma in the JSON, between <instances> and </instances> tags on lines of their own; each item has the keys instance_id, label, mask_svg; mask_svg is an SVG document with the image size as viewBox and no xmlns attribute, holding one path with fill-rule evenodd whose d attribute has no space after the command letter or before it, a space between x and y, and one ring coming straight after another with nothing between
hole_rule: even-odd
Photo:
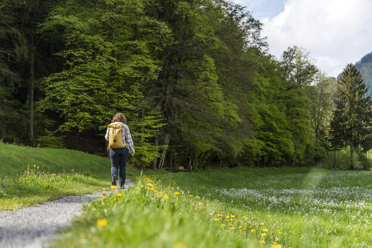
<instances>
[{"instance_id":1,"label":"woman in plaid shirt and dark trousers, excluding her yellow backpack","mask_svg":"<svg viewBox=\"0 0 372 248\"><path fill-rule=\"evenodd\" d=\"M132 141L131 133L129 132L129 127L126 125L126 119L122 113L116 113L112 118L110 125L122 124L121 135L123 140L123 146L121 148L109 148L110 149L110 160L111 160L111 177L112 185L116 186L116 180L119 176L119 186L124 189L125 177L126 177L126 160L128 159L129 149L131 150L131 155L134 155L134 144ZM117 124L117 125L116 125ZM109 125L109 126L110 126ZM116 131L115 131L116 132ZM107 128L105 139L109 141L110 128ZM119 173L118 173L119 171Z\"/></svg>"}]
</instances>

